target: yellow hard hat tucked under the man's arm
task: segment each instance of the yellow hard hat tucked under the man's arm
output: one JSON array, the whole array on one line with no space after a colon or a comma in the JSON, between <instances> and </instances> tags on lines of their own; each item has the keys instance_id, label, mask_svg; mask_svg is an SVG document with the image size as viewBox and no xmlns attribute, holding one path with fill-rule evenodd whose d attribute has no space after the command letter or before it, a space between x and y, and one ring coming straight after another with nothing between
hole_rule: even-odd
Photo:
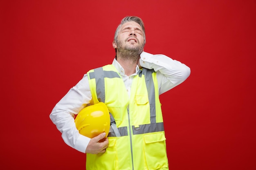
<instances>
[{"instance_id":1,"label":"yellow hard hat tucked under the man's arm","mask_svg":"<svg viewBox=\"0 0 256 170\"><path fill-rule=\"evenodd\" d=\"M93 138L106 132L106 139L110 129L110 115L106 104L99 102L83 108L77 114L75 124L81 135Z\"/></svg>"}]
</instances>

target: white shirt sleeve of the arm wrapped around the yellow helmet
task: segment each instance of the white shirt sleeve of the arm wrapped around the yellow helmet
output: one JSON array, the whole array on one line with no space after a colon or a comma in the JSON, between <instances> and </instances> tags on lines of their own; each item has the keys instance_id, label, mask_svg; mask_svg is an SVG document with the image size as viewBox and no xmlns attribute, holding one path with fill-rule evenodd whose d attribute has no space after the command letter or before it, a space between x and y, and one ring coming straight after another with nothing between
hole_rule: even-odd
<instances>
[{"instance_id":1,"label":"white shirt sleeve of the arm wrapped around the yellow helmet","mask_svg":"<svg viewBox=\"0 0 256 170\"><path fill-rule=\"evenodd\" d=\"M85 153L90 138L81 135L76 129L74 114L78 114L80 110L90 103L91 99L92 94L88 77L85 74L54 106L50 114L50 119L61 132L65 143L83 153Z\"/></svg>"}]
</instances>

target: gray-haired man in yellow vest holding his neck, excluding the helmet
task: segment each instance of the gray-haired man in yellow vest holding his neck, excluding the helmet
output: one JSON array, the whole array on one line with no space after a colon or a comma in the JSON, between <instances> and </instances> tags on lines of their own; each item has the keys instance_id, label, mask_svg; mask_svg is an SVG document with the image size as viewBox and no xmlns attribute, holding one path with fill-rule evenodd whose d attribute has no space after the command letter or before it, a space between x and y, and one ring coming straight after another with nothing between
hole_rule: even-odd
<instances>
[{"instance_id":1,"label":"gray-haired man in yellow vest holding his neck, excluding the helmet","mask_svg":"<svg viewBox=\"0 0 256 170\"><path fill-rule=\"evenodd\" d=\"M112 42L112 64L88 71L50 114L65 143L87 153L87 170L168 170L159 95L184 82L190 68L144 52L145 43L142 20L125 17ZM110 133L99 142L105 133L92 139L79 134L74 114L99 102L112 113L121 136Z\"/></svg>"}]
</instances>

